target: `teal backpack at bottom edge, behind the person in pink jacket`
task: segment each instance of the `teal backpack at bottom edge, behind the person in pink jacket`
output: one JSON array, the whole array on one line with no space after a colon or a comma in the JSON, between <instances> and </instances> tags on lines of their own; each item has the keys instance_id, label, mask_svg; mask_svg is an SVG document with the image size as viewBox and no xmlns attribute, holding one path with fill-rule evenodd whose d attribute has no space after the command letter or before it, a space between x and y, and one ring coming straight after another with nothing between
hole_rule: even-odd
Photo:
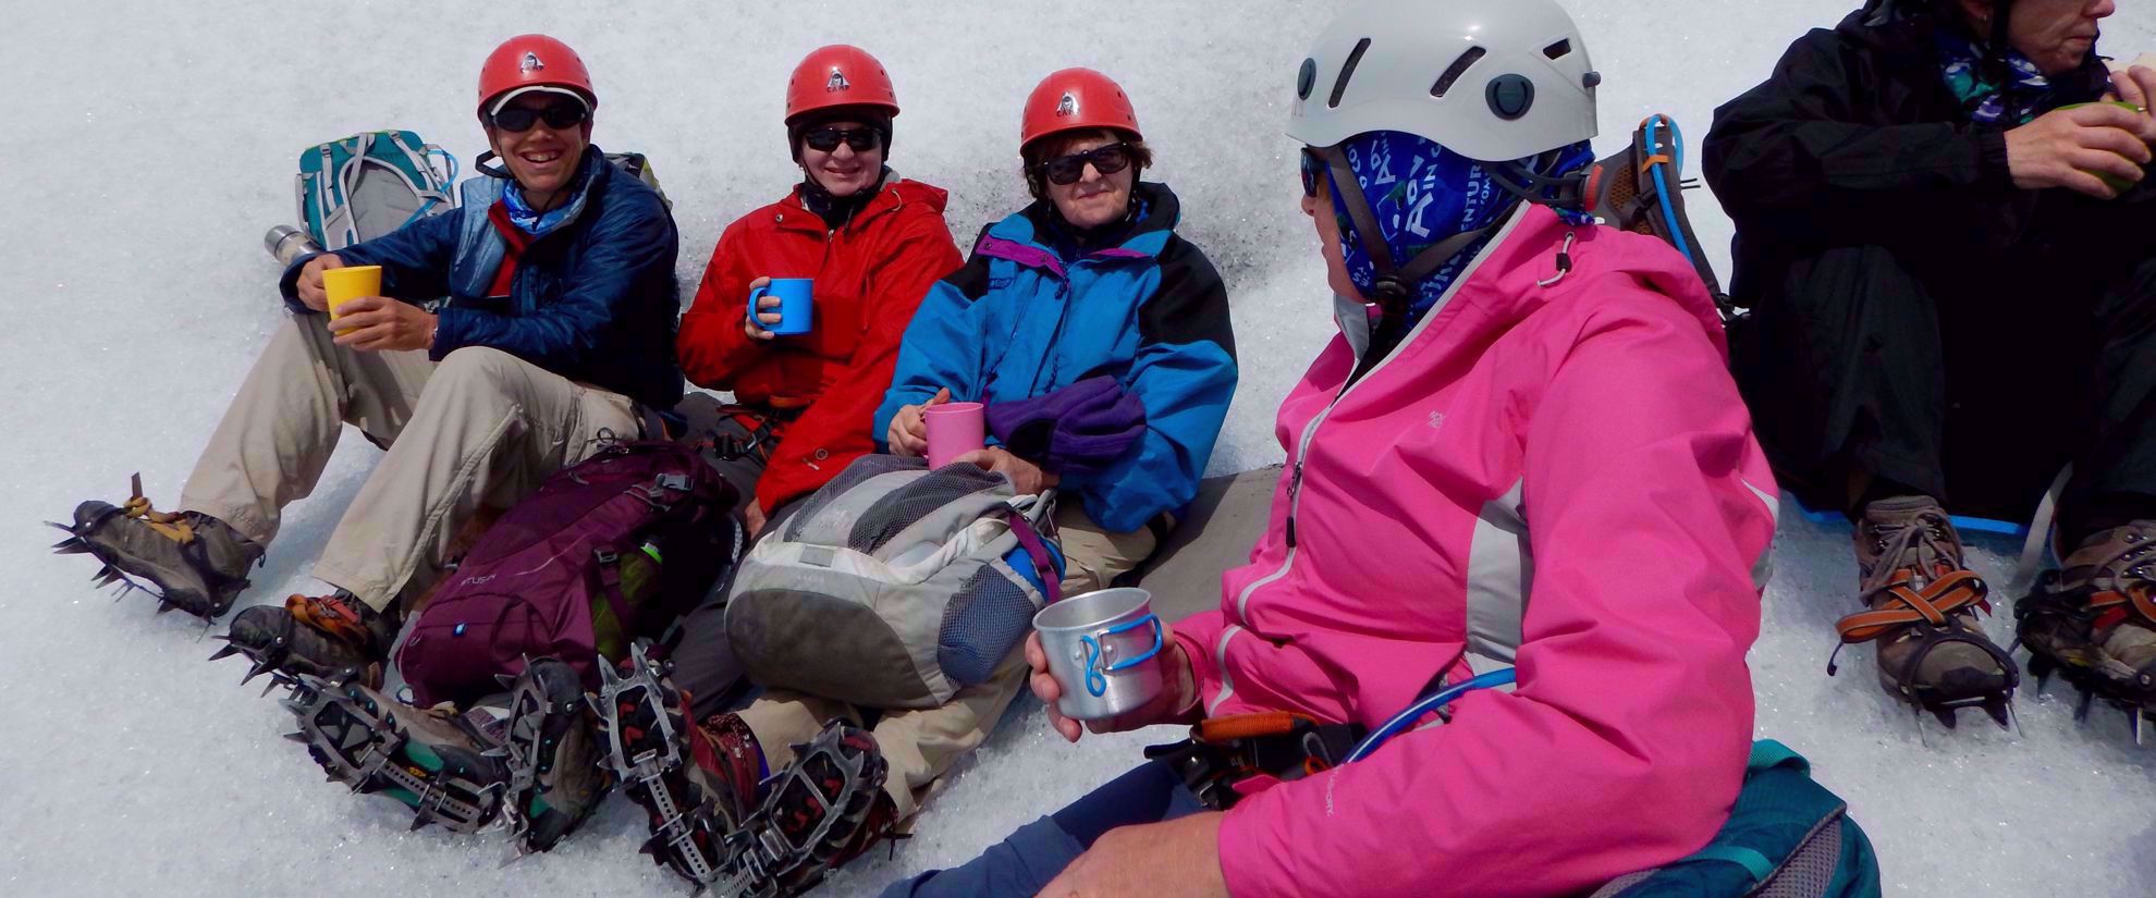
<instances>
[{"instance_id":1,"label":"teal backpack at bottom edge, behind the person in pink jacket","mask_svg":"<svg viewBox=\"0 0 2156 898\"><path fill-rule=\"evenodd\" d=\"M1850 805L1811 780L1811 762L1753 743L1729 823L1690 857L1604 885L1591 898L1876 898L1880 864Z\"/></svg>"}]
</instances>

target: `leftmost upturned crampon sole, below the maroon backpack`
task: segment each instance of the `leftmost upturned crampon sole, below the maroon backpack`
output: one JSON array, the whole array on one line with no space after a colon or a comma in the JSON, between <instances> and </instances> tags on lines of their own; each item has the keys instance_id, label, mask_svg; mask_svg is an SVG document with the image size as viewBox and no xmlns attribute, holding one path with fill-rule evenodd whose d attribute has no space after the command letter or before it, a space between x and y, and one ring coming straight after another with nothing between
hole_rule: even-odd
<instances>
[{"instance_id":1,"label":"leftmost upturned crampon sole, below the maroon backpack","mask_svg":"<svg viewBox=\"0 0 2156 898\"><path fill-rule=\"evenodd\" d=\"M330 782L401 801L412 829L472 833L496 820L502 764L470 721L403 706L351 678L274 676L291 687L285 708L300 719L285 739L306 745Z\"/></svg>"}]
</instances>

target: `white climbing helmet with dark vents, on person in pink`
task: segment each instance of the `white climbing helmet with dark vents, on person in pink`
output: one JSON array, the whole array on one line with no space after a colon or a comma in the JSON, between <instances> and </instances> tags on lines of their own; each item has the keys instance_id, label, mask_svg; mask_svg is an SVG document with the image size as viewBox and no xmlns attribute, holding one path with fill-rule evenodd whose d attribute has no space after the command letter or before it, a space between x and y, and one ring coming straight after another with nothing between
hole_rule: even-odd
<instances>
[{"instance_id":1,"label":"white climbing helmet with dark vents, on person in pink","mask_svg":"<svg viewBox=\"0 0 2156 898\"><path fill-rule=\"evenodd\" d=\"M1595 136L1587 43L1554 0L1363 0L1296 73L1287 136L1406 131L1479 162Z\"/></svg>"}]
</instances>

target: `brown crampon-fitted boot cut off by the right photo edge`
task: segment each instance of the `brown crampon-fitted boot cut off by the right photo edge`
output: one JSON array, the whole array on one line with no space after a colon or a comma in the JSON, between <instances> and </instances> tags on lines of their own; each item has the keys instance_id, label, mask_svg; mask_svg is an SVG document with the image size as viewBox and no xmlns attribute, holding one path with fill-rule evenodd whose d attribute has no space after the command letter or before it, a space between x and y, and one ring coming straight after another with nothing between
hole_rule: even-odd
<instances>
[{"instance_id":1,"label":"brown crampon-fitted boot cut off by the right photo edge","mask_svg":"<svg viewBox=\"0 0 2156 898\"><path fill-rule=\"evenodd\" d=\"M2100 530L2055 579L2016 607L2037 676L2065 668L2076 685L2126 704L2156 700L2156 521Z\"/></svg>"}]
</instances>

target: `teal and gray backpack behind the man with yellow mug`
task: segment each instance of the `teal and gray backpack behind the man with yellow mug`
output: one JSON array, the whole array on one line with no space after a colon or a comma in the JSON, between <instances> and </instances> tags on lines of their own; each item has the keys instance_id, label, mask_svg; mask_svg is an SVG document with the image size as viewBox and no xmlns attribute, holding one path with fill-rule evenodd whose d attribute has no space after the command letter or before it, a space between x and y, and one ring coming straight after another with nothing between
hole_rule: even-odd
<instances>
[{"instance_id":1,"label":"teal and gray backpack behind the man with yellow mug","mask_svg":"<svg viewBox=\"0 0 2156 898\"><path fill-rule=\"evenodd\" d=\"M455 181L457 157L418 134L354 134L300 153L300 222L323 250L343 250L448 211Z\"/></svg>"}]
</instances>

